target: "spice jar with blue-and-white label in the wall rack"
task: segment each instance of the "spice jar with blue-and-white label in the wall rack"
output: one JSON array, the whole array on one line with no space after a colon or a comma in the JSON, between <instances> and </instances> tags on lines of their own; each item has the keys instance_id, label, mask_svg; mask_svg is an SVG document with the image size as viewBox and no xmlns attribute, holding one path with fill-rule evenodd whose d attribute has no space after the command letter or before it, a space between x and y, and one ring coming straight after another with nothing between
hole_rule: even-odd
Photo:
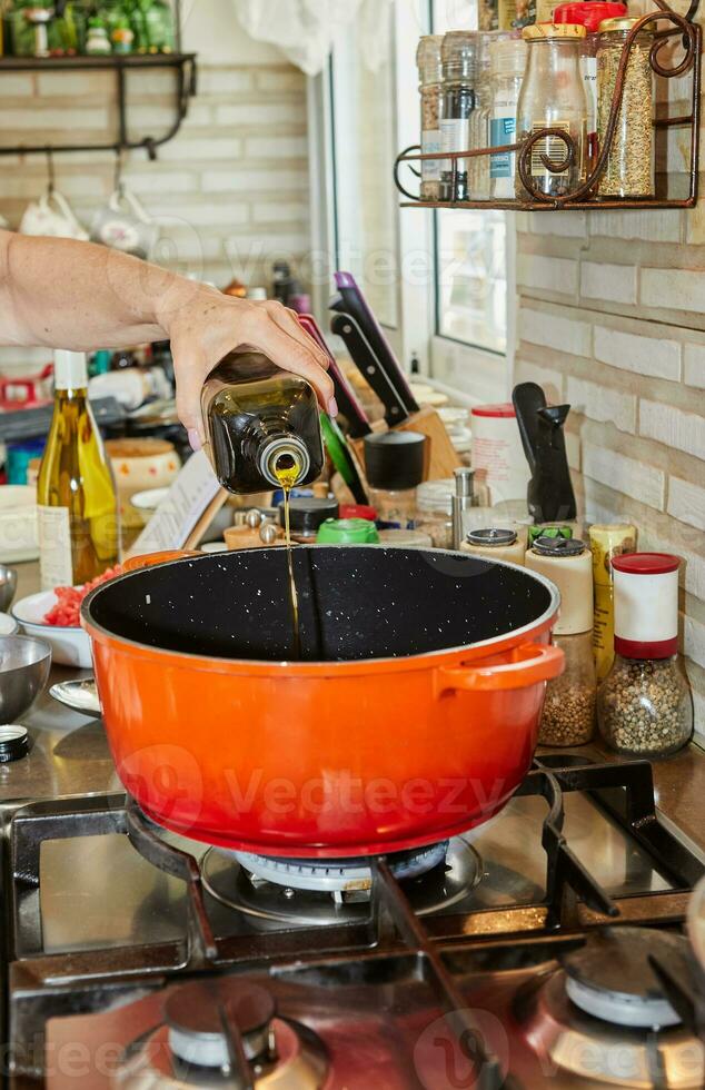
<instances>
[{"instance_id":1,"label":"spice jar with blue-and-white label in the wall rack","mask_svg":"<svg viewBox=\"0 0 705 1090\"><path fill-rule=\"evenodd\" d=\"M491 42L489 58L493 87L489 146L498 148L516 141L516 110L526 68L526 42L520 38L502 38ZM499 151L489 157L489 196L494 200L514 198L515 171L514 151Z\"/></svg>"}]
</instances>

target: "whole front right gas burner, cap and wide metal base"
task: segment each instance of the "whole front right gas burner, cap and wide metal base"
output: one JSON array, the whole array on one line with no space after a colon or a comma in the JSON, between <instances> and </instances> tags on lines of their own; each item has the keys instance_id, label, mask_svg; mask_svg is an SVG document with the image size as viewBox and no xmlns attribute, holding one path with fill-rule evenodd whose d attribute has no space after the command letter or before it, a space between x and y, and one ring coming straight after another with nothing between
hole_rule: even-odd
<instances>
[{"instance_id":1,"label":"whole front right gas burner, cap and wide metal base","mask_svg":"<svg viewBox=\"0 0 705 1090\"><path fill-rule=\"evenodd\" d=\"M679 1024L648 963L653 954L675 968L686 952L684 938L647 928L588 935L562 969L518 992L525 1042L542 1064L589 1086L702 1090L705 1047Z\"/></svg>"}]
</instances>

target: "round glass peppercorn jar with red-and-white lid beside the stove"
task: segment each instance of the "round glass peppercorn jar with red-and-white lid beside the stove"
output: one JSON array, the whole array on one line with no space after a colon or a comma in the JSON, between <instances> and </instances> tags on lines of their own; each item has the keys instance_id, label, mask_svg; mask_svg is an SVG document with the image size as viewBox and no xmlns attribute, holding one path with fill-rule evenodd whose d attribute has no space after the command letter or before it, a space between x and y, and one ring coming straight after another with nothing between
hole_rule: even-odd
<instances>
[{"instance_id":1,"label":"round glass peppercorn jar with red-and-white lid beside the stove","mask_svg":"<svg viewBox=\"0 0 705 1090\"><path fill-rule=\"evenodd\" d=\"M693 733L678 660L677 556L630 553L612 562L615 661L597 694L599 730L620 753L665 756Z\"/></svg>"}]
</instances>

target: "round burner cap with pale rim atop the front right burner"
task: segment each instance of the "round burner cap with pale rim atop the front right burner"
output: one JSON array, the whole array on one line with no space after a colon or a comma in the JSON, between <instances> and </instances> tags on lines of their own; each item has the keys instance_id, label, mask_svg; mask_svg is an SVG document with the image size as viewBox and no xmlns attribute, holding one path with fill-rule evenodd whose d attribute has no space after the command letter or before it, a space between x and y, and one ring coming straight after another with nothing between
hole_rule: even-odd
<instances>
[{"instance_id":1,"label":"round burner cap with pale rim atop the front right burner","mask_svg":"<svg viewBox=\"0 0 705 1090\"><path fill-rule=\"evenodd\" d=\"M681 1019L648 963L649 954L672 969L685 965L682 935L647 928L610 928L563 959L569 999L595 1018L616 1025L666 1029Z\"/></svg>"}]
</instances>

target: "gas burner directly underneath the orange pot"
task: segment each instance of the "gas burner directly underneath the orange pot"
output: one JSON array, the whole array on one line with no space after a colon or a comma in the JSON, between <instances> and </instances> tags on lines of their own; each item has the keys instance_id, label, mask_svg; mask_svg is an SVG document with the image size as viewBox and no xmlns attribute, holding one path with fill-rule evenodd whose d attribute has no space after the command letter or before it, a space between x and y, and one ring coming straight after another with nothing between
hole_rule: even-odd
<instances>
[{"instance_id":1,"label":"gas burner directly underneath the orange pot","mask_svg":"<svg viewBox=\"0 0 705 1090\"><path fill-rule=\"evenodd\" d=\"M461 901L481 876L481 861L465 840L388 855L417 915ZM211 848L201 861L205 888L230 909L269 923L339 924L367 911L371 870L363 859L291 860Z\"/></svg>"}]
</instances>

